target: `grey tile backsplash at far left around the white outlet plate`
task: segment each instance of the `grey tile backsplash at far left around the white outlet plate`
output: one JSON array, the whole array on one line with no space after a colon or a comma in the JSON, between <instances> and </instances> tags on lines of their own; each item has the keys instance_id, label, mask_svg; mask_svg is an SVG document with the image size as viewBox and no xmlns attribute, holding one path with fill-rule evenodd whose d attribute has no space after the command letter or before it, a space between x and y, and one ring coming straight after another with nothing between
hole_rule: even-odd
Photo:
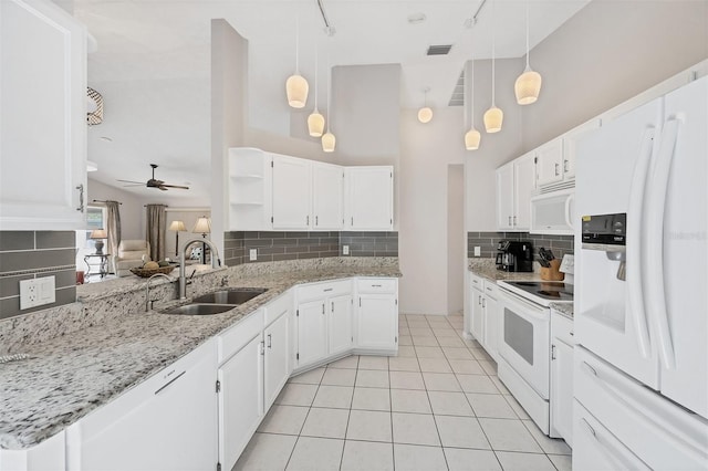
<instances>
[{"instance_id":1,"label":"grey tile backsplash at far left around the white outlet plate","mask_svg":"<svg viewBox=\"0 0 708 471\"><path fill-rule=\"evenodd\" d=\"M74 231L0 231L0 320L76 301ZM52 304L20 311L20 281L54 276Z\"/></svg>"}]
</instances>

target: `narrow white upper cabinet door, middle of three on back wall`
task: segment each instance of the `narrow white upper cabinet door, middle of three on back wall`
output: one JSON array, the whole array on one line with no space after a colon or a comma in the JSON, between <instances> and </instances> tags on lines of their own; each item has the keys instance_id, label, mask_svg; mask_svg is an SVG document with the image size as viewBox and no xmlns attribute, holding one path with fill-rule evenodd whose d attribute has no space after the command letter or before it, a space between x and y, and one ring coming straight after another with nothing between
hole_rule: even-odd
<instances>
[{"instance_id":1,"label":"narrow white upper cabinet door, middle of three on back wall","mask_svg":"<svg viewBox=\"0 0 708 471\"><path fill-rule=\"evenodd\" d=\"M344 227L344 167L312 163L313 230L341 230Z\"/></svg>"}]
</instances>

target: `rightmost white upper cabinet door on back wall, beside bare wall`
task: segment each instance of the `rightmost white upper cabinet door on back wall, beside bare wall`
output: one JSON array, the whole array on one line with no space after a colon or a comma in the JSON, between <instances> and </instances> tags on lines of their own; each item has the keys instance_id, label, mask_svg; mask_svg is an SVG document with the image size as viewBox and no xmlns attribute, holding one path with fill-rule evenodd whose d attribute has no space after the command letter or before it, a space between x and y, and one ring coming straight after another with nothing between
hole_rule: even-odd
<instances>
[{"instance_id":1,"label":"rightmost white upper cabinet door on back wall, beside bare wall","mask_svg":"<svg viewBox=\"0 0 708 471\"><path fill-rule=\"evenodd\" d=\"M354 231L394 228L394 168L346 167L344 227Z\"/></svg>"}]
</instances>

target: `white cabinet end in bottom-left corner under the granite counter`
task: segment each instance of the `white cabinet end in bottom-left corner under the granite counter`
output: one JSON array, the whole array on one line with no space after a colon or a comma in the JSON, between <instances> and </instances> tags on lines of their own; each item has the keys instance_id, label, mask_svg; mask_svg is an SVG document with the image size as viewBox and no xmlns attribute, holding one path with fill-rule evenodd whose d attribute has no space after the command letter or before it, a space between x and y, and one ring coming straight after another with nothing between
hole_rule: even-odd
<instances>
[{"instance_id":1,"label":"white cabinet end in bottom-left corner under the granite counter","mask_svg":"<svg viewBox=\"0 0 708 471\"><path fill-rule=\"evenodd\" d=\"M41 443L22 450L0 449L0 470L62 471L65 470L66 442L64 431Z\"/></svg>"}]
</instances>

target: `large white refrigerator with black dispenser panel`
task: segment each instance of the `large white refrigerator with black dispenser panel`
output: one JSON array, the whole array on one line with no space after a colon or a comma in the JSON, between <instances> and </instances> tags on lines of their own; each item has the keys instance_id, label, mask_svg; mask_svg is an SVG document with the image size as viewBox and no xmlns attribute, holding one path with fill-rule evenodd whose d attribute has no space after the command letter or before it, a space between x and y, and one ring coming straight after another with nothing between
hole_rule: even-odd
<instances>
[{"instance_id":1,"label":"large white refrigerator with black dispenser panel","mask_svg":"<svg viewBox=\"0 0 708 471\"><path fill-rule=\"evenodd\" d=\"M575 233L573 469L708 469L708 77L603 122L576 168L581 222L626 238Z\"/></svg>"}]
</instances>

